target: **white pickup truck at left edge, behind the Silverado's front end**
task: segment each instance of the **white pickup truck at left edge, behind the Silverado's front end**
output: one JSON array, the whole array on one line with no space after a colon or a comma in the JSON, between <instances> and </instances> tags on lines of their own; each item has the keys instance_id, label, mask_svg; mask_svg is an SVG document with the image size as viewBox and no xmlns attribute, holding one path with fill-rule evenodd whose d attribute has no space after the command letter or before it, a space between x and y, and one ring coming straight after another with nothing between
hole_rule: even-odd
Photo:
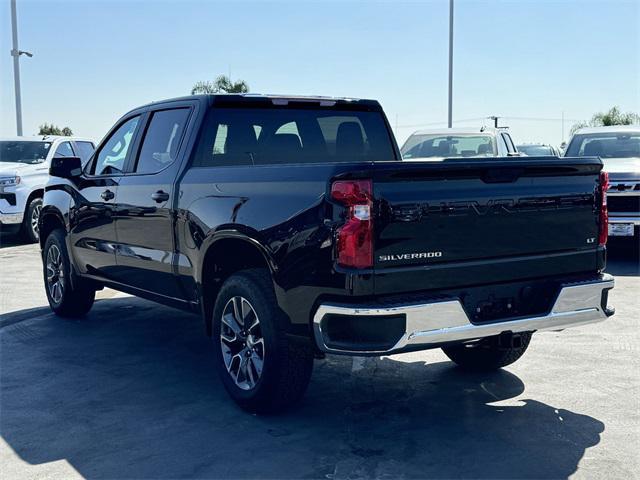
<instances>
[{"instance_id":1,"label":"white pickup truck at left edge, behind the Silverado's front end","mask_svg":"<svg viewBox=\"0 0 640 480\"><path fill-rule=\"evenodd\" d=\"M20 232L26 241L37 242L51 159L80 157L84 164L94 149L93 140L78 137L0 139L0 232Z\"/></svg>"}]
</instances>

